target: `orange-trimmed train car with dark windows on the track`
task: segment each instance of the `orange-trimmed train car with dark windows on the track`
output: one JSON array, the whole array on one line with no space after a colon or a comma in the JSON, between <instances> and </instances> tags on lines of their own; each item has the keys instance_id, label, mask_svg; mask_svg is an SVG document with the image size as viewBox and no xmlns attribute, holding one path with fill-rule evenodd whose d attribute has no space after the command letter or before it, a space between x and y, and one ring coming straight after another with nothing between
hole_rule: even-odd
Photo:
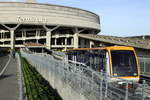
<instances>
[{"instance_id":1,"label":"orange-trimmed train car with dark windows on the track","mask_svg":"<svg viewBox=\"0 0 150 100\"><path fill-rule=\"evenodd\" d=\"M68 59L91 67L95 71L105 72L109 81L119 79L138 82L140 69L133 47L110 46L101 48L67 49Z\"/></svg>"}]
</instances>

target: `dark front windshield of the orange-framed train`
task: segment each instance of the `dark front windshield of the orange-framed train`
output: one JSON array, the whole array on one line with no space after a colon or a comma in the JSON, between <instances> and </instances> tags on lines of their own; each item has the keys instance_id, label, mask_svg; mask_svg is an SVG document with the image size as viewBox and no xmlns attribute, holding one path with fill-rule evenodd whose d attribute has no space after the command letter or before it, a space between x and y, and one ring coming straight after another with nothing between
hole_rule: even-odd
<instances>
[{"instance_id":1,"label":"dark front windshield of the orange-framed train","mask_svg":"<svg viewBox=\"0 0 150 100\"><path fill-rule=\"evenodd\" d=\"M112 50L113 76L137 76L137 63L133 51Z\"/></svg>"}]
</instances>

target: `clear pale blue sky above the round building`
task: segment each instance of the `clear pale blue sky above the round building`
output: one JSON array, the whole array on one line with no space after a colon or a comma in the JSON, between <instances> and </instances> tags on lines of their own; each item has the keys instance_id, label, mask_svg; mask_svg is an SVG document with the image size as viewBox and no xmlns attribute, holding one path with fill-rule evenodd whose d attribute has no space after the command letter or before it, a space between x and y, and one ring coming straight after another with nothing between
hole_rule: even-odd
<instances>
[{"instance_id":1,"label":"clear pale blue sky above the round building","mask_svg":"<svg viewBox=\"0 0 150 100\"><path fill-rule=\"evenodd\" d=\"M36 1L39 3L50 3L82 8L96 13L100 16L101 32L99 34L113 36L150 35L150 0Z\"/></svg>"}]
</instances>

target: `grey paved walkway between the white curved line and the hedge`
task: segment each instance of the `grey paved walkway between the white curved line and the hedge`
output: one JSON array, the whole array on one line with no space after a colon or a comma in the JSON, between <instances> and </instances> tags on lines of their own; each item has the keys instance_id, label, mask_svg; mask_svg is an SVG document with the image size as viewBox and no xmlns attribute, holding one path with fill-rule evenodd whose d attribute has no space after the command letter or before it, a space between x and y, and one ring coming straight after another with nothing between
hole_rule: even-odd
<instances>
[{"instance_id":1,"label":"grey paved walkway between the white curved line and the hedge","mask_svg":"<svg viewBox=\"0 0 150 100\"><path fill-rule=\"evenodd\" d=\"M11 58L6 71L0 76L0 100L18 100L18 95L17 60Z\"/></svg>"}]
</instances>

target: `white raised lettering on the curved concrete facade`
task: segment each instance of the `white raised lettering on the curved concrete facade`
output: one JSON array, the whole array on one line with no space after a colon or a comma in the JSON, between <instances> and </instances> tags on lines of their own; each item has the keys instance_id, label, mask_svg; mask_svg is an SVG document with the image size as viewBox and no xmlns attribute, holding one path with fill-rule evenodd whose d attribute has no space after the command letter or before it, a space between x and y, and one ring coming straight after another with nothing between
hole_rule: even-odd
<instances>
[{"instance_id":1,"label":"white raised lettering on the curved concrete facade","mask_svg":"<svg viewBox=\"0 0 150 100\"><path fill-rule=\"evenodd\" d=\"M45 23L47 19L44 17L17 17L18 22L38 22L38 23Z\"/></svg>"}]
</instances>

